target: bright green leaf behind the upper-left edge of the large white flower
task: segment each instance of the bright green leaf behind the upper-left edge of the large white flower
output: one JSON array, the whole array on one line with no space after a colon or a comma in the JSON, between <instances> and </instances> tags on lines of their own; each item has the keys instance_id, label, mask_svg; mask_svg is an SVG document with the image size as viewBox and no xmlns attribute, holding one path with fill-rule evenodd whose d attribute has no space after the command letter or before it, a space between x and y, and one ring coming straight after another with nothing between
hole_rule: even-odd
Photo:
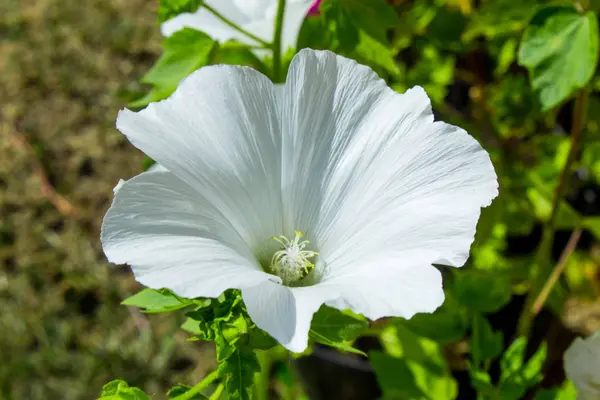
<instances>
[{"instance_id":1,"label":"bright green leaf behind the upper-left edge of the large white flower","mask_svg":"<svg viewBox=\"0 0 600 400\"><path fill-rule=\"evenodd\" d=\"M181 80L198 68L208 65L216 42L205 33L185 28L163 42L163 54L141 79L154 88L143 98L133 101L132 107L143 107L168 97Z\"/></svg>"}]
</instances>

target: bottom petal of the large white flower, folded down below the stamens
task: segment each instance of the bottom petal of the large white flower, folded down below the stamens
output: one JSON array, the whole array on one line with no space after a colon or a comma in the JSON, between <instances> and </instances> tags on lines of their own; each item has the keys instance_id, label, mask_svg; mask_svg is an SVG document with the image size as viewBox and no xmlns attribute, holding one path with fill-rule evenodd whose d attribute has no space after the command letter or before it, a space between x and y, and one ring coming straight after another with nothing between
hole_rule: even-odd
<instances>
[{"instance_id":1,"label":"bottom petal of the large white flower, folded down below the stamens","mask_svg":"<svg viewBox=\"0 0 600 400\"><path fill-rule=\"evenodd\" d=\"M416 313L433 312L444 302L441 274L432 266L393 274L379 263L364 267L361 275L313 286L290 288L264 282L243 289L242 297L252 321L297 353L306 349L313 314L322 304L376 320L387 316L408 319Z\"/></svg>"}]
</instances>

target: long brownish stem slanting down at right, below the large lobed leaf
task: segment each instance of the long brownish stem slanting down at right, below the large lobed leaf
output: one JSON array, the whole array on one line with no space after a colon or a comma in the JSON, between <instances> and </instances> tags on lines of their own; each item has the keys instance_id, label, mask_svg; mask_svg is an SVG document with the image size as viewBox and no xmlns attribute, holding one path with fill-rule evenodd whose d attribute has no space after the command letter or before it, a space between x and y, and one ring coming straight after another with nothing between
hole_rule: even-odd
<instances>
[{"instance_id":1,"label":"long brownish stem slanting down at right, below the large lobed leaf","mask_svg":"<svg viewBox=\"0 0 600 400\"><path fill-rule=\"evenodd\" d=\"M517 332L519 336L529 336L533 319L535 318L535 310L533 308L535 300L538 298L539 293L543 289L545 282L552 273L552 263L550 262L550 252L552 250L552 244L554 243L554 231L556 229L556 217L560 204L562 203L565 194L567 193L568 181L571 175L571 170L577 155L579 152L579 143L581 141L581 134L583 127L587 120L587 109L588 109L588 97L589 92L587 88L581 89L577 93L575 98L575 105L573 106L573 124L571 128L571 149L567 156L567 161L560 173L558 186L554 192L554 198L552 199L552 211L550 218L544 224L542 233L542 242L538 247L538 251L535 258L535 265L537 267L536 277L533 281L533 287L529 290L527 298L525 299L525 306L519 318L519 325Z\"/></svg>"}]
</instances>

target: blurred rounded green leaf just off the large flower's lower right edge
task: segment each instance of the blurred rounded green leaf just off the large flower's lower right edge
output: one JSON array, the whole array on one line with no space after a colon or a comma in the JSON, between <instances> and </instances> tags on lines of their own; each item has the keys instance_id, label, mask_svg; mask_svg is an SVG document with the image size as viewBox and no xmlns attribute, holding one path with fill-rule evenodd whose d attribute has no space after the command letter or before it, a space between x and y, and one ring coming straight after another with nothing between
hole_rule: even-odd
<instances>
[{"instance_id":1,"label":"blurred rounded green leaf just off the large flower's lower right edge","mask_svg":"<svg viewBox=\"0 0 600 400\"><path fill-rule=\"evenodd\" d=\"M452 292L459 303L478 312L491 313L504 307L511 298L509 278L489 271L456 271Z\"/></svg>"}]
</instances>

